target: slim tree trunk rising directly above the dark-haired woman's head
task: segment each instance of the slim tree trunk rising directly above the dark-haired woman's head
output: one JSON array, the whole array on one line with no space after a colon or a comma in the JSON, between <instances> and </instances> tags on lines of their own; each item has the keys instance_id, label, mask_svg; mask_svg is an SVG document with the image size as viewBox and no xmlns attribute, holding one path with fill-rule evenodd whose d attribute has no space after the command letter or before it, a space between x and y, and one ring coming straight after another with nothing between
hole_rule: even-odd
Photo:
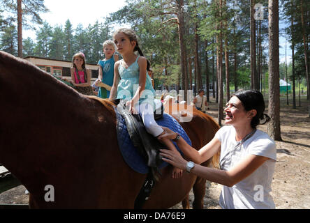
<instances>
[{"instance_id":1,"label":"slim tree trunk rising directly above the dark-haired woman's head","mask_svg":"<svg viewBox=\"0 0 310 223\"><path fill-rule=\"evenodd\" d=\"M251 54L251 89L258 89L256 76L256 26L254 20L254 1L251 0L251 38L250 38L250 54Z\"/></svg>"}]
</instances>

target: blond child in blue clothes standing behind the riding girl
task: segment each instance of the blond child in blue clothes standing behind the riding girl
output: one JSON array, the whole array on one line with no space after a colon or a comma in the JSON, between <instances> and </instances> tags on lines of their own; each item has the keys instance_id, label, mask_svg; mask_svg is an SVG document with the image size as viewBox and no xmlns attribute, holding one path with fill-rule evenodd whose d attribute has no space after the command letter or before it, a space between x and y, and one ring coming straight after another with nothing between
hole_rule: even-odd
<instances>
[{"instance_id":1,"label":"blond child in blue clothes standing behind the riding girl","mask_svg":"<svg viewBox=\"0 0 310 223\"><path fill-rule=\"evenodd\" d=\"M112 40L106 40L103 43L103 53L105 54L105 59L98 62L99 72L98 80L104 84L112 86L114 79L114 65L115 62L119 60L119 56L115 54L116 46ZM96 82L98 84L98 82ZM98 91L98 97L109 98L110 91L100 87Z\"/></svg>"}]
</instances>

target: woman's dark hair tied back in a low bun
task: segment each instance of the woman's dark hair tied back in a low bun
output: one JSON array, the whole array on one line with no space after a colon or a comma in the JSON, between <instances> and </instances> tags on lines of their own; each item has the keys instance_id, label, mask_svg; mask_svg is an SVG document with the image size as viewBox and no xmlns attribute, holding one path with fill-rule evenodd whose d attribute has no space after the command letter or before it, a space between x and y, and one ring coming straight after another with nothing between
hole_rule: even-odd
<instances>
[{"instance_id":1,"label":"woman's dark hair tied back in a low bun","mask_svg":"<svg viewBox=\"0 0 310 223\"><path fill-rule=\"evenodd\" d=\"M260 91L255 90L246 90L246 91L237 91L232 96L236 96L241 100L242 105L246 111L250 111L251 109L255 109L257 114L252 118L251 127L256 128L257 125L264 125L268 121L270 121L270 116L265 114L265 101L262 93ZM260 123L260 120L263 123Z\"/></svg>"}]
</instances>

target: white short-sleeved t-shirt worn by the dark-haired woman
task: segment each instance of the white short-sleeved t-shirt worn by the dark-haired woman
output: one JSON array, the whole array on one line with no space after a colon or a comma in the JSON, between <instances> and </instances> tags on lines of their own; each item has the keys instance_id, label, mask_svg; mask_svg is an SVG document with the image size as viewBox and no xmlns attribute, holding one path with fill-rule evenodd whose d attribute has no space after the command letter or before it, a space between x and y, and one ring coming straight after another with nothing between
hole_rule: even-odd
<instances>
[{"instance_id":1,"label":"white short-sleeved t-shirt worn by the dark-haired woman","mask_svg":"<svg viewBox=\"0 0 310 223\"><path fill-rule=\"evenodd\" d=\"M232 187L223 186L219 205L222 208L275 208L270 195L272 176L276 162L276 144L267 133L256 130L252 137L236 146L236 132L231 125L223 126L215 137L221 141L221 169L229 170L246 155L260 155L270 158L250 176L244 178Z\"/></svg>"}]
</instances>

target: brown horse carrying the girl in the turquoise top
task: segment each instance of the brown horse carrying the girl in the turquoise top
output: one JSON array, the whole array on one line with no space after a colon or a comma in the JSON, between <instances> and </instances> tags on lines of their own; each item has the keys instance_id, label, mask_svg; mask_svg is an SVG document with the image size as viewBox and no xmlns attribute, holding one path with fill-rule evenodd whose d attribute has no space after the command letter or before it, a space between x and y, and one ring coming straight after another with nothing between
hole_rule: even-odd
<instances>
[{"instance_id":1,"label":"brown horse carrying the girl in the turquoise top","mask_svg":"<svg viewBox=\"0 0 310 223\"><path fill-rule=\"evenodd\" d=\"M0 162L27 187L31 208L133 208L146 175L128 167L119 152L112 103L81 95L0 52L0 105ZM201 112L182 126L194 148L219 128ZM162 170L143 208L174 206L191 187L195 208L202 208L204 180L186 172L172 179L171 169ZM54 200L46 199L49 192Z\"/></svg>"}]
</instances>

